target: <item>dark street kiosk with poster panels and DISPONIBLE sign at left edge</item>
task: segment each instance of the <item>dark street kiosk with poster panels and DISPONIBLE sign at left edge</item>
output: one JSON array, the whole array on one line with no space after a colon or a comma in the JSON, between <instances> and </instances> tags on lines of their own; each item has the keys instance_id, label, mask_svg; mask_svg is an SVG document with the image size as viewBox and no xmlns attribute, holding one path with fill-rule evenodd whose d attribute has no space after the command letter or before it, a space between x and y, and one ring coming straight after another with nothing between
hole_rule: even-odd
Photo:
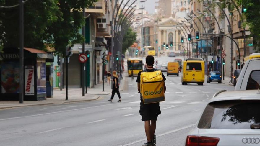
<instances>
[{"instance_id":1,"label":"dark street kiosk with poster panels and DISPONIBLE sign at left edge","mask_svg":"<svg viewBox=\"0 0 260 146\"><path fill-rule=\"evenodd\" d=\"M19 49L4 48L0 58L0 100L19 100ZM46 99L46 62L53 62L52 54L24 48L24 100Z\"/></svg>"}]
</instances>

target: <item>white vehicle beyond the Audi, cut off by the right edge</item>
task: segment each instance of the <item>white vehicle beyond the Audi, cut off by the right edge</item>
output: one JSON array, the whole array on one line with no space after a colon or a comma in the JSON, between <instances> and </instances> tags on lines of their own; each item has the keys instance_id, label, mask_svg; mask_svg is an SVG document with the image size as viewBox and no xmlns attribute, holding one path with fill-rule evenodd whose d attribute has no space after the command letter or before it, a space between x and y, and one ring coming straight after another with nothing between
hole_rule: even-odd
<instances>
[{"instance_id":1,"label":"white vehicle beyond the Audi, cut off by the right edge","mask_svg":"<svg viewBox=\"0 0 260 146\"><path fill-rule=\"evenodd\" d=\"M237 78L235 91L260 89L260 58L247 60Z\"/></svg>"}]
</instances>

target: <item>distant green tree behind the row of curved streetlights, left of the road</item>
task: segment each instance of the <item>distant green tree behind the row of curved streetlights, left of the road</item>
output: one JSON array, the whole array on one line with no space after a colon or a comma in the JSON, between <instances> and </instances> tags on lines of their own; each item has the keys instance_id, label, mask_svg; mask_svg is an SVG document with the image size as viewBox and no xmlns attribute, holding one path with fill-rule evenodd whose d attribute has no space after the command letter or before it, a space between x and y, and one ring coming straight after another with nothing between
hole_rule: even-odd
<instances>
[{"instance_id":1,"label":"distant green tree behind the row of curved streetlights, left of the road","mask_svg":"<svg viewBox=\"0 0 260 146\"><path fill-rule=\"evenodd\" d=\"M137 34L132 30L132 28L128 28L126 31L126 34L124 35L123 39L123 53L126 52L126 49L133 45L133 43L136 41Z\"/></svg>"}]
</instances>

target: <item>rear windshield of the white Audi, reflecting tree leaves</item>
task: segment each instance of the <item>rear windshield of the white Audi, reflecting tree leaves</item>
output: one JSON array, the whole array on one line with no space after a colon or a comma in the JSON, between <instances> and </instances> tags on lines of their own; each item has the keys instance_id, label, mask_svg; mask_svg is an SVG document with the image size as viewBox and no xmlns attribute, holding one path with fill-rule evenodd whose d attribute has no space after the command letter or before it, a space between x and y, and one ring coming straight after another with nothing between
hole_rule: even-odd
<instances>
[{"instance_id":1,"label":"rear windshield of the white Audi, reflecting tree leaves","mask_svg":"<svg viewBox=\"0 0 260 146\"><path fill-rule=\"evenodd\" d=\"M251 124L260 124L260 101L230 100L209 103L199 120L198 128L251 129Z\"/></svg>"}]
</instances>

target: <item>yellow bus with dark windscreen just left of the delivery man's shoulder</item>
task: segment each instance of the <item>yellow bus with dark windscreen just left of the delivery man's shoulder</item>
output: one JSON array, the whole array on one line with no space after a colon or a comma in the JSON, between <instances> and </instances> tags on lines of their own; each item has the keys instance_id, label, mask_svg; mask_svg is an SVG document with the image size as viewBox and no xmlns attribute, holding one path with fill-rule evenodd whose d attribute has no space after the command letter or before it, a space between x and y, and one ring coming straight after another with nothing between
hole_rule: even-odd
<instances>
[{"instance_id":1,"label":"yellow bus with dark windscreen just left of the delivery man's shoulder","mask_svg":"<svg viewBox=\"0 0 260 146\"><path fill-rule=\"evenodd\" d=\"M134 72L134 76L138 75L139 71L143 70L143 61L139 58L129 58L127 60L128 76L131 76L131 70Z\"/></svg>"}]
</instances>

